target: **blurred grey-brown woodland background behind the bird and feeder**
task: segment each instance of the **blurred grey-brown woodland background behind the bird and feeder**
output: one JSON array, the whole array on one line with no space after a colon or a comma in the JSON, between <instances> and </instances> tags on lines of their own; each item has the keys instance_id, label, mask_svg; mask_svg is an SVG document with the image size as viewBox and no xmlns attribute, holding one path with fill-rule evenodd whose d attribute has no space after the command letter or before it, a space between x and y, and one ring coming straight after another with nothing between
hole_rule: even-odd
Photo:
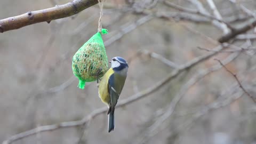
<instances>
[{"instance_id":1,"label":"blurred grey-brown woodland background behind the bird and feeder","mask_svg":"<svg viewBox=\"0 0 256 144\"><path fill-rule=\"evenodd\" d=\"M0 19L68 2L2 0ZM177 10L177 5L195 13ZM86 127L40 132L12 143L256 143L256 107L250 98L256 98L256 34L251 29L238 35L217 53L222 47L217 39L228 28L209 16L239 28L254 19L255 7L253 0L105 2L102 27L109 31L103 35L108 59L129 61L119 101L161 85L116 108L111 133L102 113ZM97 4L72 17L0 34L1 142L106 107L97 83L78 89L71 69L75 52L97 32L99 11ZM209 54L212 57L201 59ZM214 59L227 64L247 93Z\"/></svg>"}]
</instances>

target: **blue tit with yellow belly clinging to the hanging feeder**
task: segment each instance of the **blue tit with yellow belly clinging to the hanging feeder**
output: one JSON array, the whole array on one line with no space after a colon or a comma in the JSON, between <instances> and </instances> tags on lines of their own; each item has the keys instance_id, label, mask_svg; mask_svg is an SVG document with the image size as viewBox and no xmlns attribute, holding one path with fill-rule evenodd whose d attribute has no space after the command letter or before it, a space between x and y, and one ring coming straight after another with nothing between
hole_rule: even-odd
<instances>
[{"instance_id":1,"label":"blue tit with yellow belly clinging to the hanging feeder","mask_svg":"<svg viewBox=\"0 0 256 144\"><path fill-rule=\"evenodd\" d=\"M108 132L115 128L114 111L123 90L128 71L128 63L121 57L112 58L111 68L103 75L99 84L99 97L108 106Z\"/></svg>"}]
</instances>

